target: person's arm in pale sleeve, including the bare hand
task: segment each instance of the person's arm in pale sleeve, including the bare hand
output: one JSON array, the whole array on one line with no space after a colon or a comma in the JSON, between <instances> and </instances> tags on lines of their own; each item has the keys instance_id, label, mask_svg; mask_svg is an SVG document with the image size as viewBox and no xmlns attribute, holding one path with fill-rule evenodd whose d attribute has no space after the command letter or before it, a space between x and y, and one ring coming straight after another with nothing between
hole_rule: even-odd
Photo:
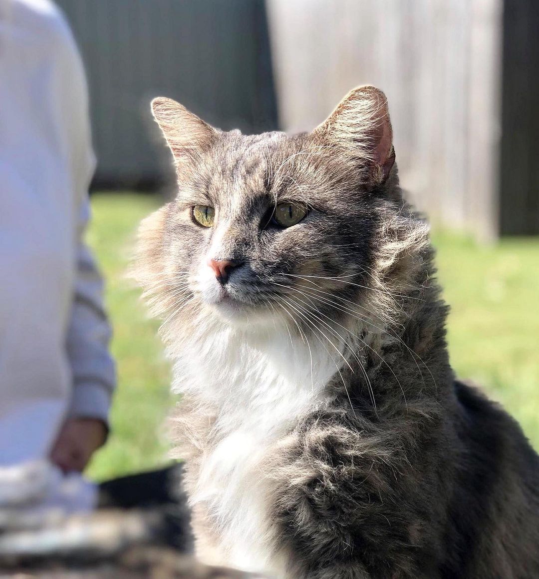
<instances>
[{"instance_id":1,"label":"person's arm in pale sleeve, including the bare hand","mask_svg":"<svg viewBox=\"0 0 539 579\"><path fill-rule=\"evenodd\" d=\"M65 21L64 24L65 42L58 43L57 47L62 63L58 67L64 85L60 92L61 110L70 144L73 190L75 276L66 335L73 391L51 459L66 471L80 471L106 439L110 398L115 388L115 364L108 349L111 332L103 305L102 278L83 239L90 218L88 186L95 168L86 77L75 41Z\"/></svg>"}]
</instances>

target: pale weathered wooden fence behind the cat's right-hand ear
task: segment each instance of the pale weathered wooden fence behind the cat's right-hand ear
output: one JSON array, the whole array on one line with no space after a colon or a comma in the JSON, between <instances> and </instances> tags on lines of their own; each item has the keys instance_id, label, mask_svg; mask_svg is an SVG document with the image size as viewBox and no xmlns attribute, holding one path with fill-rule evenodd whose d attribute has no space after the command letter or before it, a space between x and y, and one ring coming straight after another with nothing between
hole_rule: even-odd
<instances>
[{"instance_id":1,"label":"pale weathered wooden fence behind the cat's right-hand ear","mask_svg":"<svg viewBox=\"0 0 539 579\"><path fill-rule=\"evenodd\" d=\"M385 91L401 182L431 219L498 232L501 0L268 0L280 123Z\"/></svg>"}]
</instances>

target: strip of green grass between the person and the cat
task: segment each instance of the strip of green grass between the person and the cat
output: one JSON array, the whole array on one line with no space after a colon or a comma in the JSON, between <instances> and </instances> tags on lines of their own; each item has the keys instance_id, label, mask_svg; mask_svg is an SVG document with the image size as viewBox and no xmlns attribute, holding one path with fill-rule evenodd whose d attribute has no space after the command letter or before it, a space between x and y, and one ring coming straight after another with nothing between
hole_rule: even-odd
<instances>
[{"instance_id":1,"label":"strip of green grass between the person and the cat","mask_svg":"<svg viewBox=\"0 0 539 579\"><path fill-rule=\"evenodd\" d=\"M95 195L87 241L106 278L106 305L113 326L112 354L118 387L110 415L111 434L88 468L102 480L163 464L167 452L164 417L172 398L169 368L140 292L126 269L136 226L158 207L146 195Z\"/></svg>"}]
</instances>

